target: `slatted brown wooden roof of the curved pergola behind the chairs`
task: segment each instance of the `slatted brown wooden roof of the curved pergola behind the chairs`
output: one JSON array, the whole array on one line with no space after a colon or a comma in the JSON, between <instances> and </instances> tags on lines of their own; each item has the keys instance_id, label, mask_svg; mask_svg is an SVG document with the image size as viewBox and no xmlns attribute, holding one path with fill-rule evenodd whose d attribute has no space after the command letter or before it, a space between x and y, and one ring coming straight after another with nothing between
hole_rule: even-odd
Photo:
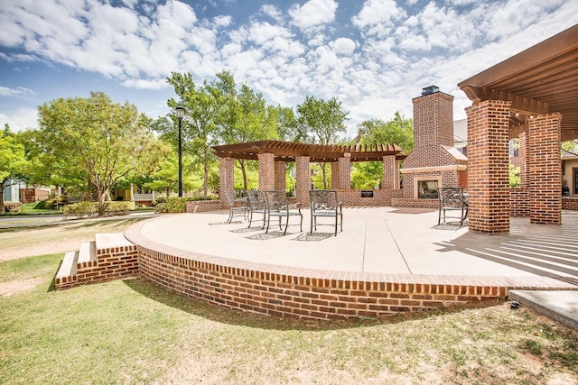
<instances>
[{"instance_id":1,"label":"slatted brown wooden roof of the curved pergola behind the chairs","mask_svg":"<svg viewBox=\"0 0 578 385\"><path fill-rule=\"evenodd\" d=\"M219 158L256 160L259 153L273 153L275 160L294 161L297 156L309 156L310 161L331 162L350 155L351 161L376 161L395 155L396 160L406 159L396 144L308 144L283 141L259 141L213 146Z\"/></svg>"}]
</instances>

